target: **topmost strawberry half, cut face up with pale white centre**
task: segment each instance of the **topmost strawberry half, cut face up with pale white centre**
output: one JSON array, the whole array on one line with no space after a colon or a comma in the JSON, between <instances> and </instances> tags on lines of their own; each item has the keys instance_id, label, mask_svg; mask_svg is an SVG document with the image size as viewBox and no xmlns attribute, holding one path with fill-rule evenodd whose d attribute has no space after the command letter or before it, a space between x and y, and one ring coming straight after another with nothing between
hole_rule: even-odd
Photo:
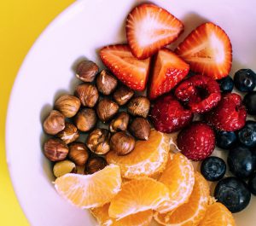
<instances>
[{"instance_id":1,"label":"topmost strawberry half, cut face up with pale white centre","mask_svg":"<svg viewBox=\"0 0 256 226\"><path fill-rule=\"evenodd\" d=\"M183 32L183 23L154 4L144 3L132 9L126 20L126 37L138 59L154 55Z\"/></svg>"}]
</instances>

